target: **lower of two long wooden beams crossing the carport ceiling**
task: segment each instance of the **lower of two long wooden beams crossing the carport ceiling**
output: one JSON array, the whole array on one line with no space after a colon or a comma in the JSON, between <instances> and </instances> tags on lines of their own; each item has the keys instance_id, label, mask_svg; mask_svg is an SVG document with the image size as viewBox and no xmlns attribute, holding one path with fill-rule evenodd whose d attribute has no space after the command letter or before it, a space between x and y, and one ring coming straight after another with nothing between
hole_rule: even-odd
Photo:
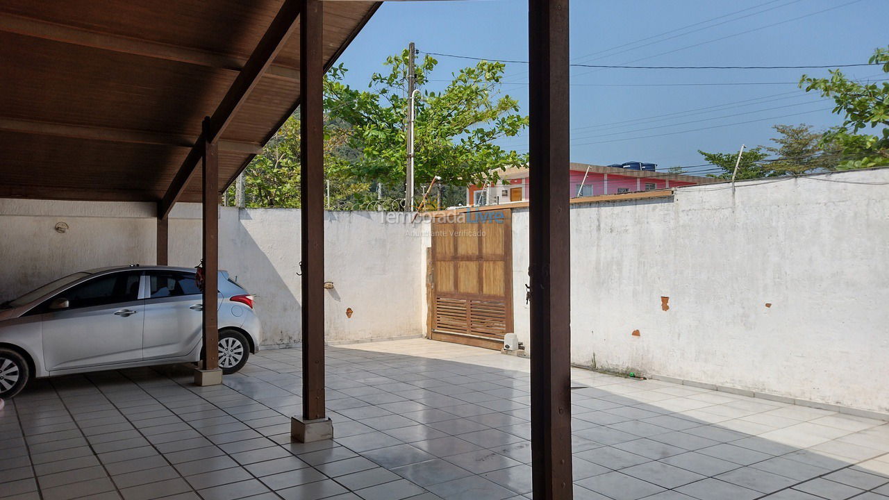
<instances>
[{"instance_id":1,"label":"lower of two long wooden beams crossing the carport ceiling","mask_svg":"<svg viewBox=\"0 0 889 500\"><path fill-rule=\"evenodd\" d=\"M20 118L0 117L0 131L14 133L33 133L36 135L50 135L53 137L67 137L69 139L84 139L87 141L124 142L130 144L152 144L168 146L171 148L194 148L195 143L185 135L172 133L160 133L145 130L132 130L124 128L108 128L90 125L72 125L36 120L22 120ZM262 153L262 146L242 141L218 141L222 151L233 151L258 155Z\"/></svg>"}]
</instances>

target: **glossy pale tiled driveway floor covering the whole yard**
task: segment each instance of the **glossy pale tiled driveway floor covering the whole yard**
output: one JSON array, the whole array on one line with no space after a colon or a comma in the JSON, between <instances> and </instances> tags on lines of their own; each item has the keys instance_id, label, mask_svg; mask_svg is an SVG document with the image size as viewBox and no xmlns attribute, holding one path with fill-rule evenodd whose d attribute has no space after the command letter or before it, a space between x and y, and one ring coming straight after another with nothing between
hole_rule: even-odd
<instances>
[{"instance_id":1,"label":"glossy pale tiled driveway floor covering the whole yard","mask_svg":"<svg viewBox=\"0 0 889 500\"><path fill-rule=\"evenodd\" d=\"M526 359L422 339L327 355L336 439L308 445L289 436L299 350L262 351L216 387L182 367L36 383L0 411L0 497L531 497ZM585 386L576 499L889 497L885 422L580 369L573 380Z\"/></svg>"}]
</instances>

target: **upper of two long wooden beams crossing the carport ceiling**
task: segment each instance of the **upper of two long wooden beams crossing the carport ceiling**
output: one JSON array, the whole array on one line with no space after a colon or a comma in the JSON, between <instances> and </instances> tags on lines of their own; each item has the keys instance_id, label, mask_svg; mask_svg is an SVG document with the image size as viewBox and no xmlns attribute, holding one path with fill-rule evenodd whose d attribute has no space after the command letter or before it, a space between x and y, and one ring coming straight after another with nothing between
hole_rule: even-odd
<instances>
[{"instance_id":1,"label":"upper of two long wooden beams crossing the carport ceiling","mask_svg":"<svg viewBox=\"0 0 889 500\"><path fill-rule=\"evenodd\" d=\"M132 36L112 35L84 28L56 24L10 13L0 13L0 31L16 35L31 36L52 40L62 44L73 44L110 52L139 55L160 60L174 60L206 68L241 71L247 60L243 57L180 45L162 44ZM268 69L269 77L299 81L300 73L295 68L273 65Z\"/></svg>"}]
</instances>

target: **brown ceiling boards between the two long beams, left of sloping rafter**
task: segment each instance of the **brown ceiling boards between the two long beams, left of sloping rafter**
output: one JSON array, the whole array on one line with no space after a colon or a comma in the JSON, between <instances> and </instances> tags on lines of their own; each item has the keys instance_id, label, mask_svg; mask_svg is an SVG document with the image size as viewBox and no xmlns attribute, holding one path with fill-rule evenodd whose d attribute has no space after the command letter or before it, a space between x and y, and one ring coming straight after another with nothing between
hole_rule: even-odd
<instances>
[{"instance_id":1,"label":"brown ceiling boards between the two long beams, left of sloping rafter","mask_svg":"<svg viewBox=\"0 0 889 500\"><path fill-rule=\"evenodd\" d=\"M236 77L220 69L4 32L0 68L4 117L186 133L192 141L200 133L200 118Z\"/></svg>"}]
</instances>

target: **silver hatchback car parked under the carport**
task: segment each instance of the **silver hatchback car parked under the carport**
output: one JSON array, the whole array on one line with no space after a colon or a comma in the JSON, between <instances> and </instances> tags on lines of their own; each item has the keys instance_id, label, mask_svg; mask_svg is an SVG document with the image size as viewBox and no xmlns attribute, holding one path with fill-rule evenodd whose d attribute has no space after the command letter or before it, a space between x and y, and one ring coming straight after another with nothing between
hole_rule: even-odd
<instances>
[{"instance_id":1,"label":"silver hatchback car parked under the carport","mask_svg":"<svg viewBox=\"0 0 889 500\"><path fill-rule=\"evenodd\" d=\"M76 272L0 304L0 399L33 377L198 361L203 307L195 270L165 266ZM216 307L232 374L256 352L260 320L226 271Z\"/></svg>"}]
</instances>

